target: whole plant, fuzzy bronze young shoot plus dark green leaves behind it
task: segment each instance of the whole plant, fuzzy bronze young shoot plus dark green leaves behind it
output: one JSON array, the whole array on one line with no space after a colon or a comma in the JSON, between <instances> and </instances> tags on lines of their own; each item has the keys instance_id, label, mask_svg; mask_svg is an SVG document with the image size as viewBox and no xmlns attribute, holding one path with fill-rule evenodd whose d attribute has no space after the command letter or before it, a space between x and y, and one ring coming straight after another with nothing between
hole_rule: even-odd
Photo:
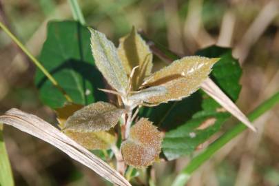
<instances>
[{"instance_id":1,"label":"whole plant, fuzzy bronze young shoot plus dark green leaves behind it","mask_svg":"<svg viewBox=\"0 0 279 186\"><path fill-rule=\"evenodd\" d=\"M72 30L67 37L65 28ZM76 36L79 37L76 39ZM65 39L70 38L71 43L76 42L79 46L78 50L65 42ZM61 51L53 50L55 42L60 43ZM220 51L219 54L214 54L214 50ZM49 62L50 54L52 57L56 56L56 63ZM122 136L122 145L118 147L125 163L134 167L146 167L158 159L161 148L167 159L193 152L200 143L220 130L220 126L229 117L227 112L218 111L222 110L218 103L209 99L203 92L196 92L218 60L212 77L216 78L216 83L225 92L228 91L227 94L231 98L239 92L237 90L234 94L229 93L238 85L238 77L233 76L232 80L235 83L226 87L225 81L232 81L228 81L229 77L224 79L220 76L221 71L229 67L228 65L236 69L234 73L240 72L237 61L231 58L227 49L208 48L197 56L174 59L173 63L156 72L152 72L152 59L149 46L135 28L130 34L119 39L116 48L105 34L97 30L85 28L76 22L52 22L48 25L48 39L41 53L41 61L45 63L45 68L62 82L62 87L73 98L74 103L67 103L59 92L50 96L48 92L55 91L54 87L40 72L37 73L36 82L40 87L43 102L56 110L59 127L65 134L87 149L110 149L112 146L118 146ZM223 73L224 76L225 74ZM231 76L230 74L231 71L228 70L227 75ZM196 93L190 96L194 92ZM116 95L118 103L107 103L105 93ZM57 97L56 94L60 96ZM212 104L216 106L212 107ZM138 114L141 107L144 109ZM213 110L216 115L213 114ZM198 111L206 114L196 113ZM192 117L194 119L199 116L203 118L194 120L194 124L188 124L192 123ZM208 119L212 121L210 125L199 127ZM141 126L143 123L157 125L158 128L146 127L146 130L138 131L141 135L153 132L156 136L156 132L161 131L160 137L152 139L156 141L156 147L143 145L146 148L140 148L143 141L132 137L132 132L137 131L134 130L134 126ZM177 128L178 126L180 127ZM185 134L182 135L182 131ZM151 143L150 140L145 139L147 143ZM189 143L185 143L185 140ZM185 148L187 146L190 148ZM132 156L138 156L138 159L145 155L149 155L149 158L146 161L132 162L127 156L131 152Z\"/></svg>"}]
</instances>

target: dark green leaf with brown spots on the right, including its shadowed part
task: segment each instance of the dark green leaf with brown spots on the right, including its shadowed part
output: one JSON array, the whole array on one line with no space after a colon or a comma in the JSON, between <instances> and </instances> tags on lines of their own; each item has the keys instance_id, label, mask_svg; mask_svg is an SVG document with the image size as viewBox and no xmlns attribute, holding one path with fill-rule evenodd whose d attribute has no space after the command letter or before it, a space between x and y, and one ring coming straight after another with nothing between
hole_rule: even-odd
<instances>
[{"instance_id":1,"label":"dark green leaf with brown spots on the right, including its shadowed part","mask_svg":"<svg viewBox=\"0 0 279 186\"><path fill-rule=\"evenodd\" d=\"M214 65L211 79L235 102L241 89L238 83L241 68L231 56L231 50L212 46L200 50L198 55L220 58ZM149 117L150 121L166 131L162 149L167 159L172 160L194 152L220 130L231 114L199 90L182 101L145 108L141 116Z\"/></svg>"}]
</instances>

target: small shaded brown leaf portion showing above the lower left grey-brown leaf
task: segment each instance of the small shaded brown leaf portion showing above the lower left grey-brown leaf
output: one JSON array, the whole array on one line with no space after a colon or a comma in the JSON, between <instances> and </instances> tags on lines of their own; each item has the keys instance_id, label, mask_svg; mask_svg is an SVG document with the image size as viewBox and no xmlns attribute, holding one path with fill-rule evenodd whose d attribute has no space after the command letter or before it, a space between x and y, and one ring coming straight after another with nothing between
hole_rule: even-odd
<instances>
[{"instance_id":1,"label":"small shaded brown leaf portion showing above the lower left grey-brown leaf","mask_svg":"<svg viewBox=\"0 0 279 186\"><path fill-rule=\"evenodd\" d=\"M56 109L56 119L59 121L59 127L63 129L65 127L65 121L76 112L80 110L84 105L79 105L76 103L68 103L61 108Z\"/></svg>"}]
</instances>

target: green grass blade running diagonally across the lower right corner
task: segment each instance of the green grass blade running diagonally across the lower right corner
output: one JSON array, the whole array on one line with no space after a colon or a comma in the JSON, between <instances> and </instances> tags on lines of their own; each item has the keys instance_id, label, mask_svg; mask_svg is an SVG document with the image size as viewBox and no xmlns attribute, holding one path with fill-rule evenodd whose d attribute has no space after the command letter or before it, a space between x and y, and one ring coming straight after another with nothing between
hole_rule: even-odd
<instances>
[{"instance_id":1,"label":"green grass blade running diagonally across the lower right corner","mask_svg":"<svg viewBox=\"0 0 279 186\"><path fill-rule=\"evenodd\" d=\"M260 117L262 114L270 110L274 105L279 103L279 92L271 96L269 99L267 99L265 102L260 104L251 114L249 114L248 118L250 121L256 120L256 118ZM231 139L238 136L241 132L243 132L247 127L243 125L242 123L238 123L235 127L233 127L231 130L223 134L223 136L220 136L214 143L209 145L205 151L198 154L198 156L194 157L192 161L183 169L178 176L176 176L174 183L172 186L183 186L187 183L189 178L191 177L192 173L200 167L200 165L203 165L205 161L207 161L212 155L214 155L218 149L223 147L225 144L227 144Z\"/></svg>"}]
</instances>

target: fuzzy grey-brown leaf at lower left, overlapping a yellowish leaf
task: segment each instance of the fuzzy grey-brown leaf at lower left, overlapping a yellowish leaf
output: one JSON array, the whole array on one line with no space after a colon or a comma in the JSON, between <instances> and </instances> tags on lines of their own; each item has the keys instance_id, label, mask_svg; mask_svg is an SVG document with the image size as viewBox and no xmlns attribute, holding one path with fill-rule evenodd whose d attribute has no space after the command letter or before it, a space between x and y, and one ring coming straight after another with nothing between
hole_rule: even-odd
<instances>
[{"instance_id":1,"label":"fuzzy grey-brown leaf at lower left, overlapping a yellowish leaf","mask_svg":"<svg viewBox=\"0 0 279 186\"><path fill-rule=\"evenodd\" d=\"M98 132L114 127L124 110L99 101L74 112L65 122L64 130L76 132Z\"/></svg>"}]
</instances>

